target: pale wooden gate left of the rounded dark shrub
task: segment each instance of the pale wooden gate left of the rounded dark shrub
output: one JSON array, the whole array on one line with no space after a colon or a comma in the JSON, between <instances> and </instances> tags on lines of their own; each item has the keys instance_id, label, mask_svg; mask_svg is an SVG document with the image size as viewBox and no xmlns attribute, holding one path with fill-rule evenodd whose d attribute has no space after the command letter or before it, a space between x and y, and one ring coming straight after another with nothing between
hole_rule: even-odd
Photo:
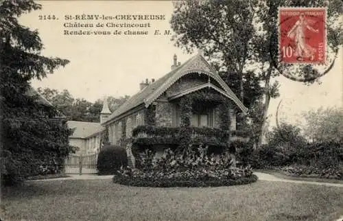
<instances>
[{"instance_id":1,"label":"pale wooden gate left of the rounded dark shrub","mask_svg":"<svg viewBox=\"0 0 343 221\"><path fill-rule=\"evenodd\" d=\"M69 155L64 161L65 174L96 174L97 153L89 155Z\"/></svg>"}]
</instances>

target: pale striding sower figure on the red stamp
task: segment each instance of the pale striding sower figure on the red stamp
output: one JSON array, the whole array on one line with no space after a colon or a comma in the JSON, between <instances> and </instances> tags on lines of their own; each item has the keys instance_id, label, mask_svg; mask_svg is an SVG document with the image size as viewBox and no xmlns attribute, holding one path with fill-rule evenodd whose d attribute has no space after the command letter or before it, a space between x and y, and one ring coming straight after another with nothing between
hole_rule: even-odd
<instances>
[{"instance_id":1,"label":"pale striding sower figure on the red stamp","mask_svg":"<svg viewBox=\"0 0 343 221\"><path fill-rule=\"evenodd\" d=\"M305 42L305 28L318 33L318 30L315 30L313 27L308 25L307 20L305 19L305 14L301 13L299 20L296 21L295 25L287 34L288 38L295 40L296 49L294 56L296 56L296 60L303 60L303 58L314 60L314 54L316 53L316 49L307 45Z\"/></svg>"}]
</instances>

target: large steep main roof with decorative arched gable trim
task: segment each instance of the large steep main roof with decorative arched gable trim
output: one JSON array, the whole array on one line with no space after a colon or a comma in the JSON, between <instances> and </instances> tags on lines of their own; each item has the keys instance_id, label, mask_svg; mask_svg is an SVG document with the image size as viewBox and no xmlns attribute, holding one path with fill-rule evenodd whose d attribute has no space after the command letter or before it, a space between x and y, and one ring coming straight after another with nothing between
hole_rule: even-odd
<instances>
[{"instance_id":1,"label":"large steep main roof with decorative arched gable trim","mask_svg":"<svg viewBox=\"0 0 343 221\"><path fill-rule=\"evenodd\" d=\"M187 75L189 73L204 73L209 75L211 78L215 79L220 86L222 86L226 96L230 97L230 99L233 100L233 102L235 102L235 104L237 104L244 113L248 110L248 108L241 103L235 93L231 91L224 80L220 78L220 75L209 65L208 62L206 62L202 55L197 54L196 56L193 56L193 58L187 60L187 62L164 75L162 78L159 78L155 82L145 86L145 88L139 91L139 93L130 97L123 105L115 110L110 117L108 117L104 124L141 104L144 104L145 107L150 106L150 104L167 91L172 84L174 84L183 75Z\"/></svg>"}]
</instances>

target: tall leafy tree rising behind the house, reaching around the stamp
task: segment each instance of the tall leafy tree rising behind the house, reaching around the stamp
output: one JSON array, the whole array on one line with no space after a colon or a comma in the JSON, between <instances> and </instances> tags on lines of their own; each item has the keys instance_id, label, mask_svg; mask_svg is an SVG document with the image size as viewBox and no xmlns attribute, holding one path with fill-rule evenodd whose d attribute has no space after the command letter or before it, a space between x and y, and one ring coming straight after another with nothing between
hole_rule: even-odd
<instances>
[{"instance_id":1,"label":"tall leafy tree rising behind the house, reaching around the stamp","mask_svg":"<svg viewBox=\"0 0 343 221\"><path fill-rule=\"evenodd\" d=\"M289 66L278 61L278 8L280 6L320 7L321 0L265 0L265 1L197 1L185 0L175 4L171 18L171 27L176 33L173 37L178 47L191 51L193 47L204 50L217 70L226 71L230 77L235 73L239 85L237 95L244 100L244 75L253 64L255 76L262 84L264 102L260 128L267 121L270 99L279 95L278 82L272 78L281 72L286 77ZM338 51L341 44L339 36L342 28L335 24L340 16L341 1L333 0L328 8L328 45L332 51ZM294 70L293 70L294 71ZM301 82L313 82L314 68L301 67L298 72L303 78L292 78ZM296 75L296 73L292 73ZM289 77L290 78L290 77ZM258 146L261 145L261 130Z\"/></svg>"}]
</instances>

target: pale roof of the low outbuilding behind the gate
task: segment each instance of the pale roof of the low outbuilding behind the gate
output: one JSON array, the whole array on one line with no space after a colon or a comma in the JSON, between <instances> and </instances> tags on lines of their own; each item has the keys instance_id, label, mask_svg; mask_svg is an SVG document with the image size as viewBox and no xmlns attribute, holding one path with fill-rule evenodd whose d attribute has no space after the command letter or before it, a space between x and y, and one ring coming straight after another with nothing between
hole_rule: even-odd
<instances>
[{"instance_id":1,"label":"pale roof of the low outbuilding behind the gate","mask_svg":"<svg viewBox=\"0 0 343 221\"><path fill-rule=\"evenodd\" d=\"M75 129L70 138L85 139L101 132L104 128L99 123L84 122L84 121L67 121L68 128Z\"/></svg>"}]
</instances>

